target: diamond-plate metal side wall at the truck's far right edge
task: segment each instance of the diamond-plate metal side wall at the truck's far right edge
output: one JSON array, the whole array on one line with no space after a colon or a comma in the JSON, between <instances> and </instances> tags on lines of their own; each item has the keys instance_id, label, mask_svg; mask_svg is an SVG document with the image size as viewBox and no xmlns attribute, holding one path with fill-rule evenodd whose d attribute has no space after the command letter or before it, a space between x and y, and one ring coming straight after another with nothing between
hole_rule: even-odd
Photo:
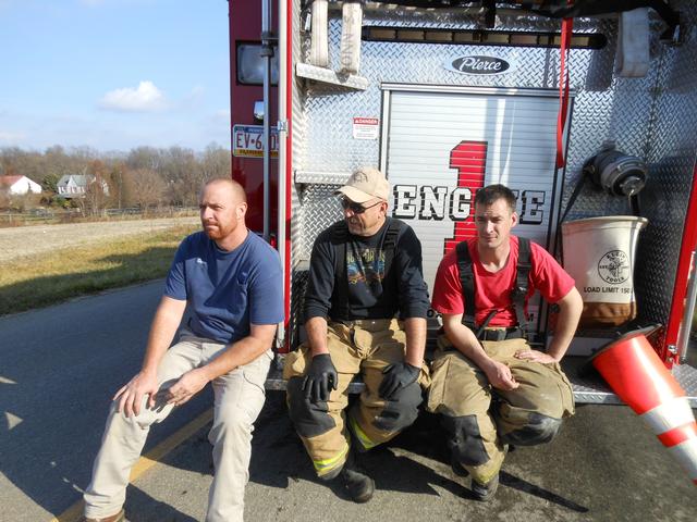
<instances>
[{"instance_id":1,"label":"diamond-plate metal side wall at the truck's far right edge","mask_svg":"<svg viewBox=\"0 0 697 522\"><path fill-rule=\"evenodd\" d=\"M694 28L695 3L677 2L675 9L681 11L684 27ZM637 266L636 289L641 315L663 323L675 285L697 152L697 34L684 35L681 47L657 46L651 130L645 148L650 178L641 192L643 214L650 224L639 243L644 262Z\"/></svg>"}]
</instances>

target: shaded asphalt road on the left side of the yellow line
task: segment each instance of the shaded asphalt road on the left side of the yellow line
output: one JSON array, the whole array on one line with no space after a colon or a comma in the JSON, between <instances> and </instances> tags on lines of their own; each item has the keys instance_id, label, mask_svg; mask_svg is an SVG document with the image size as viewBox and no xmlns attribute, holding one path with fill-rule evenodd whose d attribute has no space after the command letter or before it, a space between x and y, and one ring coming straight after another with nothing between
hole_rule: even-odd
<instances>
[{"instance_id":1,"label":"shaded asphalt road on the left side of the yellow line","mask_svg":"<svg viewBox=\"0 0 697 522\"><path fill-rule=\"evenodd\" d=\"M0 318L0 521L48 521L89 482L111 397L138 371L163 281ZM208 406L156 425L147 448Z\"/></svg>"}]
</instances>

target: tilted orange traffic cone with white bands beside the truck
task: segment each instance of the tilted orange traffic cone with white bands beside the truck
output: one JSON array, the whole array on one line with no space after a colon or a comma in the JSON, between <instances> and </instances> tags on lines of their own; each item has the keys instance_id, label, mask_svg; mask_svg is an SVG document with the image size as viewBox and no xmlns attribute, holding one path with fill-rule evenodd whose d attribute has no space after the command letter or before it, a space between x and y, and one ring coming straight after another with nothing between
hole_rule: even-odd
<instances>
[{"instance_id":1,"label":"tilted orange traffic cone with white bands beside the truck","mask_svg":"<svg viewBox=\"0 0 697 522\"><path fill-rule=\"evenodd\" d=\"M647 338L641 333L629 333L598 351L591 362L697 485L697 422L685 390Z\"/></svg>"}]
</instances>

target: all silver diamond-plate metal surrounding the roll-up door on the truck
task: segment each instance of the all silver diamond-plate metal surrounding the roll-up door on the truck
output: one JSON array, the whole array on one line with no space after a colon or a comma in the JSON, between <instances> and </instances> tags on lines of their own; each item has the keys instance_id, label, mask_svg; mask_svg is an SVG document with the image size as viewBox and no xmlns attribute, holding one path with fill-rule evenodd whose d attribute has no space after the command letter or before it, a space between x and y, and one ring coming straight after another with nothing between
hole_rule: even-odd
<instances>
[{"instance_id":1,"label":"all silver diamond-plate metal surrounding the roll-up door on the truck","mask_svg":"<svg viewBox=\"0 0 697 522\"><path fill-rule=\"evenodd\" d=\"M297 2L296 2L297 3ZM641 194L643 215L650 224L639 240L635 274L640 315L665 322L674 286L677 251L685 221L688 187L695 165L697 136L697 8L688 0L672 2L681 11L685 44L671 48L658 41L662 26L651 22L651 65L644 78L613 75L616 20L574 21L575 32L600 32L608 37L602 50L572 50L571 85L575 91L570 123L567 165L564 172L563 207L579 178L584 162L603 141L648 161L649 182ZM407 14L408 12L408 14ZM341 22L330 12L330 59L338 63ZM476 28L477 16L452 11L406 8L368 11L364 25ZM511 30L559 30L560 22L536 16L500 15L497 28ZM301 38L299 53L307 55L308 38ZM496 54L518 61L511 73L477 77L448 72L447 59L463 54ZM394 44L364 41L359 74L368 78L366 91L355 92L296 80L294 92L294 170L346 173L362 164L379 164L379 140L352 138L354 116L381 117L382 83L558 88L559 50L484 46ZM297 109L296 109L297 107ZM386 122L381 122L384 124ZM322 188L323 187L323 188ZM340 216L331 198L334 186L306 187L302 201L301 229L294 237L294 257L306 258L311 240L323 226ZM306 207L307 206L307 207ZM590 188L584 189L570 219L625 214L626 200ZM331 217L325 215L331 214ZM298 214L296 214L298 215ZM308 227L308 232L305 231Z\"/></svg>"}]
</instances>

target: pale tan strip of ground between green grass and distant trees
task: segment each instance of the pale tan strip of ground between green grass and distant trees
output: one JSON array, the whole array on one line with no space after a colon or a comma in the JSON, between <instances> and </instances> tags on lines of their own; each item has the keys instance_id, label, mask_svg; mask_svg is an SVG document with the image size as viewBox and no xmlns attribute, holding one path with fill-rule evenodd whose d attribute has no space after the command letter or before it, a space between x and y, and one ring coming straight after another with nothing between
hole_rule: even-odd
<instances>
[{"instance_id":1,"label":"pale tan strip of ground between green grass and distant trees","mask_svg":"<svg viewBox=\"0 0 697 522\"><path fill-rule=\"evenodd\" d=\"M197 223L198 216L186 216L0 228L0 263L100 240Z\"/></svg>"}]
</instances>

